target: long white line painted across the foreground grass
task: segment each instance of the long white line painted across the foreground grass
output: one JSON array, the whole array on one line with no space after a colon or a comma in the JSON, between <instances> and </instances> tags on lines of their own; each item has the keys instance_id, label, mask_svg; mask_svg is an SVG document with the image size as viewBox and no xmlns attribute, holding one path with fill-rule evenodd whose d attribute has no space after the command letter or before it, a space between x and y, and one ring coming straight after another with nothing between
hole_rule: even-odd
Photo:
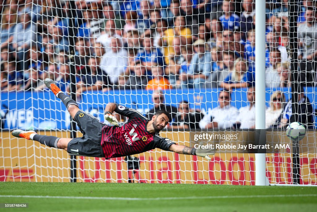
<instances>
[{"instance_id":1,"label":"long white line painted across the foreground grass","mask_svg":"<svg viewBox=\"0 0 317 212\"><path fill-rule=\"evenodd\" d=\"M33 196L33 195L0 195L0 197L16 198L53 198L53 199L87 199L87 200L192 200L192 199L230 199L230 198L275 198L275 197L308 197L317 194L294 195L239 195L239 196L184 196L184 197L157 197L157 198L132 198L132 197L97 197L97 196Z\"/></svg>"}]
</instances>

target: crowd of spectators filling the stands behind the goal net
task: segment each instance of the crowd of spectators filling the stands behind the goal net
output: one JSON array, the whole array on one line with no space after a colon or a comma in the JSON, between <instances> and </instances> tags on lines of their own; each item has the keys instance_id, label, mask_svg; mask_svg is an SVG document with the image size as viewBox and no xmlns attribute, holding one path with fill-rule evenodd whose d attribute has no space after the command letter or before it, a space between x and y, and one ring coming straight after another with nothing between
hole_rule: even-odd
<instances>
[{"instance_id":1,"label":"crowd of spectators filling the stands behind the goal net","mask_svg":"<svg viewBox=\"0 0 317 212\"><path fill-rule=\"evenodd\" d=\"M2 2L1 91L43 90L43 79L49 77L69 92L69 2ZM287 2L266 3L266 86L277 90L289 87L291 81ZM174 120L169 128L254 128L255 0L78 0L75 4L78 98L95 90L154 90L157 97L150 117L163 105L166 89L218 88L223 90L219 106L206 114L190 110L186 101L178 108L165 108ZM301 0L298 18L299 79L309 86L317 82L316 6L316 1ZM236 88L248 89L249 106L237 110L230 105L230 91ZM299 103L309 102L304 94L300 96ZM290 103L283 97L279 91L271 96L268 128L283 127L290 119ZM302 108L308 111L302 122L313 125L310 107Z\"/></svg>"}]
</instances>

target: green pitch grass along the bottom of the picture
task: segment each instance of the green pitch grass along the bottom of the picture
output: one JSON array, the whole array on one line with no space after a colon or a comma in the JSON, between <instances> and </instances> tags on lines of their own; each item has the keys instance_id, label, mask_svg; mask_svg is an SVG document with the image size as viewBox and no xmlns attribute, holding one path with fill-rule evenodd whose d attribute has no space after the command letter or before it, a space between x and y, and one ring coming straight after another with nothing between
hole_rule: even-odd
<instances>
[{"instance_id":1,"label":"green pitch grass along the bottom of the picture","mask_svg":"<svg viewBox=\"0 0 317 212\"><path fill-rule=\"evenodd\" d=\"M137 183L0 182L0 195L58 196L0 197L1 203L29 203L27 209L0 211L316 211L316 187L228 186ZM249 196L247 198L240 197ZM259 196L256 196L259 195ZM274 195L274 196L272 196ZM280 195L280 196L279 196ZM286 195L286 196L285 196ZM287 196L287 195L297 195ZM314 195L314 196L304 196ZM126 197L131 199L74 199L63 196ZM193 199L192 197L209 196ZM211 198L210 196L216 196ZM219 197L228 196L228 197ZM230 197L231 196L231 197ZM192 199L168 199L190 197ZM147 200L143 200L147 198ZM163 198L159 200L148 198Z\"/></svg>"}]
</instances>

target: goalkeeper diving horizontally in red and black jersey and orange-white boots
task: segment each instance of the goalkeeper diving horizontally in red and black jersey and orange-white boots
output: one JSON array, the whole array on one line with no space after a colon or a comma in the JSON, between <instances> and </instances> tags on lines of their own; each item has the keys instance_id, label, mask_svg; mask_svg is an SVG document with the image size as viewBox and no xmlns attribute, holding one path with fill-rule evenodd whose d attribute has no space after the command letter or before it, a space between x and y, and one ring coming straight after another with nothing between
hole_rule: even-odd
<instances>
[{"instance_id":1,"label":"goalkeeper diving horizontally in red and black jersey and orange-white boots","mask_svg":"<svg viewBox=\"0 0 317 212\"><path fill-rule=\"evenodd\" d=\"M108 103L105 109L105 120L115 125L108 126L80 110L77 103L61 92L52 79L46 78L44 83L64 103L69 114L77 122L83 136L74 139L58 138L23 130L14 130L13 136L36 140L48 147L64 149L72 155L105 157L106 159L139 154L155 148L178 154L197 155L205 157L207 160L210 160L209 155L214 154L214 149L181 146L170 139L160 137L159 131L169 122L170 114L166 111L159 110L151 120L148 120L136 110ZM128 122L119 127L113 112L128 117Z\"/></svg>"}]
</instances>

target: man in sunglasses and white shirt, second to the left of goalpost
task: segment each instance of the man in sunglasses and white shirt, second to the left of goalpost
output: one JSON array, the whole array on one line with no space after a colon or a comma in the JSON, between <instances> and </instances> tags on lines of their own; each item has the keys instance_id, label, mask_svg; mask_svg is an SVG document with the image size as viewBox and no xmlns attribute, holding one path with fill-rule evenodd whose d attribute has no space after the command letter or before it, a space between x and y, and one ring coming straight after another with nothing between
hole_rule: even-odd
<instances>
[{"instance_id":1,"label":"man in sunglasses and white shirt, second to the left of goalpost","mask_svg":"<svg viewBox=\"0 0 317 212\"><path fill-rule=\"evenodd\" d=\"M201 129L230 129L236 121L236 107L230 105L231 94L228 90L218 93L218 106L208 111L199 122Z\"/></svg>"}]
</instances>

